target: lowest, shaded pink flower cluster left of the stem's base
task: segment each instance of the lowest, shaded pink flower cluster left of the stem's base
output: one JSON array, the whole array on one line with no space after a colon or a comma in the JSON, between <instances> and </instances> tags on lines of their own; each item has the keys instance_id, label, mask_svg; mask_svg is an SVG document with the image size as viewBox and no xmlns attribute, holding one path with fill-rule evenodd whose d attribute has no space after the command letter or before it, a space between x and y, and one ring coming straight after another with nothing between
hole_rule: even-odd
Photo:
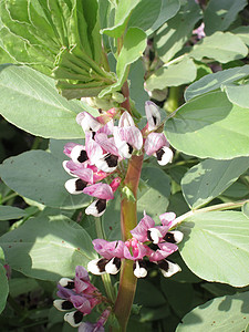
<instances>
[{"instance_id":1,"label":"lowest, shaded pink flower cluster left of the stem's base","mask_svg":"<svg viewBox=\"0 0 249 332\"><path fill-rule=\"evenodd\" d=\"M93 308L106 302L106 298L90 282L89 273L77 266L75 278L62 278L58 284L58 297L53 305L60 311L70 311L64 315L64 320L73 328L79 326L79 332L103 332L104 324L111 313L111 308L106 307L96 323L83 322L83 318L90 314Z\"/></svg>"}]
</instances>

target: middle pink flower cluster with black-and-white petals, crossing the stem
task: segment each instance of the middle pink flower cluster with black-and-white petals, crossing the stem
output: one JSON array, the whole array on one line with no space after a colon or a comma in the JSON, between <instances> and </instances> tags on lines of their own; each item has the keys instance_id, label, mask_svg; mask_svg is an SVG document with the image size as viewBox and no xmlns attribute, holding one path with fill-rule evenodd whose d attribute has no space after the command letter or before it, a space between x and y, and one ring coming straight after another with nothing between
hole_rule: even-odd
<instances>
[{"instance_id":1,"label":"middle pink flower cluster with black-and-white petals, crossing the stem","mask_svg":"<svg viewBox=\"0 0 249 332\"><path fill-rule=\"evenodd\" d=\"M120 271L122 259L134 261L133 270L137 278L146 277L153 263L159 268L164 277L180 271L178 264L166 260L178 249L177 243L183 239L179 230L170 230L176 226L175 218L174 212L165 212L159 216L162 225L155 226L155 221L144 214L139 224L131 230L129 240L125 242L93 240L94 249L102 258L90 261L89 271L94 274L115 274Z\"/></svg>"}]
</instances>

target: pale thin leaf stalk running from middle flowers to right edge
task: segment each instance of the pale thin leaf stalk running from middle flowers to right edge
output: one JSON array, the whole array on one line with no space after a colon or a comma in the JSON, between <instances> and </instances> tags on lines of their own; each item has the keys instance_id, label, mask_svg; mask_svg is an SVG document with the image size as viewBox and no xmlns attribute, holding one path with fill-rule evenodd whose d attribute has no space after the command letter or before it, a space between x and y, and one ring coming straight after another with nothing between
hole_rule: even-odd
<instances>
[{"instance_id":1,"label":"pale thin leaf stalk running from middle flowers to right edge","mask_svg":"<svg viewBox=\"0 0 249 332\"><path fill-rule=\"evenodd\" d=\"M198 209L198 210L190 210L190 211L184 214L183 216L179 216L178 218L176 218L174 221L174 225L179 225L185 219L187 219L188 217L196 215L196 214L235 209L235 208L239 208L239 207L243 206L245 203L249 203L249 199L243 199L240 201L222 203L222 204L211 205L211 206L205 207L203 209Z\"/></svg>"}]
</instances>

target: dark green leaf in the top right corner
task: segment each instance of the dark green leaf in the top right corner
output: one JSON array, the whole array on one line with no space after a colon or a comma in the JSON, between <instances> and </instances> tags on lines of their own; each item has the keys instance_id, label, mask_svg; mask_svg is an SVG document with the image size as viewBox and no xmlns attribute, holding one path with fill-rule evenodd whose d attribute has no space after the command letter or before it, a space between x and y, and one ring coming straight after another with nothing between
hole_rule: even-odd
<instances>
[{"instance_id":1,"label":"dark green leaf in the top right corner","mask_svg":"<svg viewBox=\"0 0 249 332\"><path fill-rule=\"evenodd\" d=\"M210 0L204 11L205 32L225 31L236 20L237 14L247 6L247 0Z\"/></svg>"}]
</instances>

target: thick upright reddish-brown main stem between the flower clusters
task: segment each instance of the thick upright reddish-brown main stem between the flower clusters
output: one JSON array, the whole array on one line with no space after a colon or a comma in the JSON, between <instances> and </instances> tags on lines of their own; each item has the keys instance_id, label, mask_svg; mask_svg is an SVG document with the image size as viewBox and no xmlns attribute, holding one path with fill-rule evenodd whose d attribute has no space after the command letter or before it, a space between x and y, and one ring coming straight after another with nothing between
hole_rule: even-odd
<instances>
[{"instance_id":1,"label":"thick upright reddish-brown main stem between the flower clusters","mask_svg":"<svg viewBox=\"0 0 249 332\"><path fill-rule=\"evenodd\" d=\"M144 155L132 156L128 163L128 169L124 179L126 185L136 198L137 187L141 177ZM137 225L136 200L128 200L126 197L121 201L121 229L123 240L132 237L131 230ZM121 270L121 281L117 299L114 307L114 313L120 322L121 331L126 331L133 299L136 290L136 277L133 273L133 261L124 260Z\"/></svg>"}]
</instances>

